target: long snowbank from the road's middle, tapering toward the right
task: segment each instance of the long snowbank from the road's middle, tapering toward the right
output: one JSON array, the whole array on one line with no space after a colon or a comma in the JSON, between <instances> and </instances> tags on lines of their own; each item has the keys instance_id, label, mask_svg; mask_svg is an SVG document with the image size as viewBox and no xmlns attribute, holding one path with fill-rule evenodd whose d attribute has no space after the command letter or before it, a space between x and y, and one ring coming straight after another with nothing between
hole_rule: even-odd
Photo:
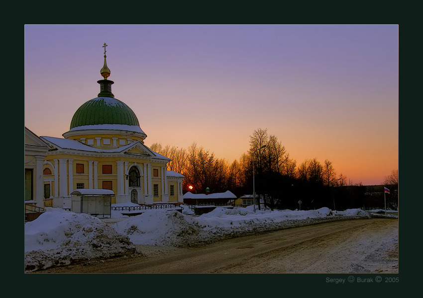
<instances>
[{"instance_id":1,"label":"long snowbank from the road's middle, tapering toward the right","mask_svg":"<svg viewBox=\"0 0 423 298\"><path fill-rule=\"evenodd\" d=\"M344 212L348 218L369 218L365 211ZM247 208L215 208L197 218L178 211L147 211L125 221L113 224L113 228L127 235L134 244L158 246L195 246L202 243L239 236L252 232L316 224L340 220L331 216L329 208L312 211L254 212Z\"/></svg>"}]
</instances>

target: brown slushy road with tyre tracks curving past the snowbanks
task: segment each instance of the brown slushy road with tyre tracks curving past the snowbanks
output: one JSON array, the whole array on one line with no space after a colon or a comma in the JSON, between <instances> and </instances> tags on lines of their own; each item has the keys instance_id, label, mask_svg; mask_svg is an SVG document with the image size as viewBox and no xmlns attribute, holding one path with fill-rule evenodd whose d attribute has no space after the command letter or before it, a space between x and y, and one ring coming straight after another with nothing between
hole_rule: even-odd
<instances>
[{"instance_id":1,"label":"brown slushy road with tyre tracks curving past the snowbanks","mask_svg":"<svg viewBox=\"0 0 423 298\"><path fill-rule=\"evenodd\" d=\"M34 273L398 273L398 219L340 221Z\"/></svg>"}]
</instances>

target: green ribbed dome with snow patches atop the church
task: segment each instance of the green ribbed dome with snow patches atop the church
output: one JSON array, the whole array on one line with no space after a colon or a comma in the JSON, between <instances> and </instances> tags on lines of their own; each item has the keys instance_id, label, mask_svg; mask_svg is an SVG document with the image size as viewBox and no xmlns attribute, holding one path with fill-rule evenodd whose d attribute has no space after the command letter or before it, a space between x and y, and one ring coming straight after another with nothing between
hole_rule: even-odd
<instances>
[{"instance_id":1,"label":"green ribbed dome with snow patches atop the church","mask_svg":"<svg viewBox=\"0 0 423 298\"><path fill-rule=\"evenodd\" d=\"M111 97L97 97L84 103L74 114L71 130L75 127L100 124L138 126L135 113L123 102Z\"/></svg>"}]
</instances>

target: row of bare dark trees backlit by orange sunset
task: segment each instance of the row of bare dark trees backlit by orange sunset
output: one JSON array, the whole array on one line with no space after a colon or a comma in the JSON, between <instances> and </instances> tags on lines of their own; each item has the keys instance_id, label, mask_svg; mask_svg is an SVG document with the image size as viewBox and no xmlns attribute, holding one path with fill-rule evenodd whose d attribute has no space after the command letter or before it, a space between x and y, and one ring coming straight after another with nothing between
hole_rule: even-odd
<instances>
[{"instance_id":1,"label":"row of bare dark trees backlit by orange sunset","mask_svg":"<svg viewBox=\"0 0 423 298\"><path fill-rule=\"evenodd\" d=\"M205 193L209 188L212 193L229 190L241 197L253 193L254 179L256 196L271 209L296 209L299 201L302 209L332 205L333 209L336 208L335 188L346 186L347 177L342 173L338 175L330 160L325 159L321 163L317 158L311 158L297 164L282 142L275 135L269 135L267 129L256 129L249 143L248 151L232 163L217 158L197 143L188 149L158 143L150 148L172 159L167 164L168 170L185 176L184 193ZM361 192L364 193L363 190ZM356 198L357 194L351 194L351 200L356 200L353 197ZM352 203L354 206L357 204L361 203Z\"/></svg>"}]
</instances>

